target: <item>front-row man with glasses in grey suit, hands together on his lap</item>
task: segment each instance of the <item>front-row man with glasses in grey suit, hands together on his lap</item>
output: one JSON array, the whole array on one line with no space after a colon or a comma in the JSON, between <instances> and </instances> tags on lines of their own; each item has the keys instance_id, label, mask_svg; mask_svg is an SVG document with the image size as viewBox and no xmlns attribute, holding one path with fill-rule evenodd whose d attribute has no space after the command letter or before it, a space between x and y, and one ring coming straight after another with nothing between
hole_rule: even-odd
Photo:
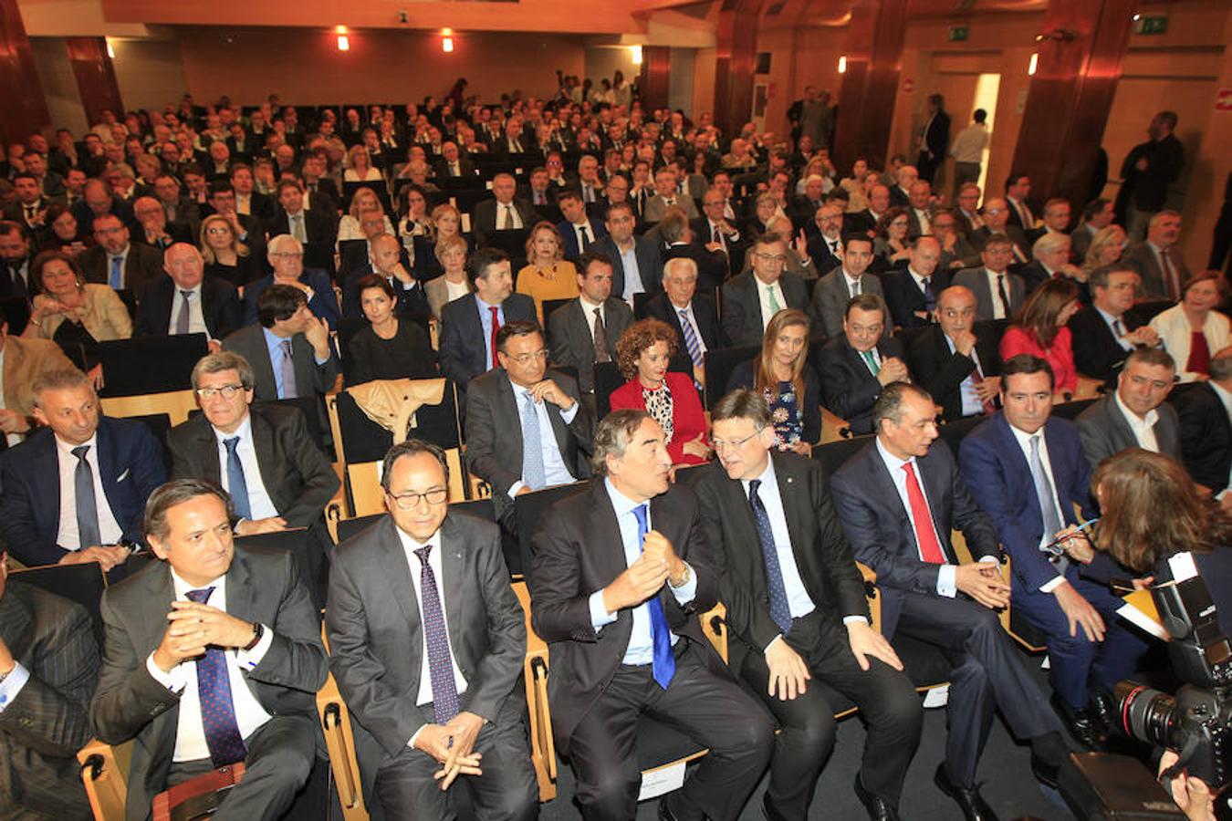
<instances>
[{"instance_id":1,"label":"front-row man with glasses in grey suit, hands together on his lap","mask_svg":"<svg viewBox=\"0 0 1232 821\"><path fill-rule=\"evenodd\" d=\"M338 548L325 612L365 787L391 821L453 819L458 784L479 817L533 819L526 620L500 531L450 513L434 444L395 444L381 484L389 516Z\"/></svg>"}]
</instances>

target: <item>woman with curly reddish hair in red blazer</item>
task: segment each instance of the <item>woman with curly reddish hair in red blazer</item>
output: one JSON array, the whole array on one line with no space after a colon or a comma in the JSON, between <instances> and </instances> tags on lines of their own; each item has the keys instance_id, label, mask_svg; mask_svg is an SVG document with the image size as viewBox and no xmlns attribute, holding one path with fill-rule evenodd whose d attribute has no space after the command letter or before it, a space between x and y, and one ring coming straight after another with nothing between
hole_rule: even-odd
<instances>
[{"instance_id":1,"label":"woman with curly reddish hair in red blazer","mask_svg":"<svg viewBox=\"0 0 1232 821\"><path fill-rule=\"evenodd\" d=\"M706 414L692 379L668 370L676 352L676 332L667 322L633 322L616 342L616 359L628 382L612 391L612 410L644 410L668 436L671 464L701 464L713 451L706 436Z\"/></svg>"}]
</instances>

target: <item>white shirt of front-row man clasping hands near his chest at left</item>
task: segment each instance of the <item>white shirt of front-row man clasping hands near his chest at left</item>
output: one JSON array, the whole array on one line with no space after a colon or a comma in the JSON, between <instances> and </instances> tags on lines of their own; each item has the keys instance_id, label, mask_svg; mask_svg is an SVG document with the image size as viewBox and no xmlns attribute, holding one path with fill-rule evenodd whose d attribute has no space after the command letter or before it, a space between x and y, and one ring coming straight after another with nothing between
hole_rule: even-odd
<instances>
[{"instance_id":1,"label":"white shirt of front-row man clasping hands near his chest at left","mask_svg":"<svg viewBox=\"0 0 1232 821\"><path fill-rule=\"evenodd\" d=\"M171 571L171 585L175 588L175 601L187 602L188 591L198 590L180 579L179 574ZM227 612L227 576L219 576L205 587L213 587L206 604ZM230 681L232 704L235 708L235 724L239 726L239 735L249 739L254 732L265 726L270 720L270 714L265 711L256 695L249 689L248 679L241 671L255 668L265 654L274 644L274 630L265 627L265 634L251 650L228 650L224 654L227 660L227 678ZM171 668L171 672L163 672L154 663L154 654L145 659L145 670L158 683L169 691L180 693L180 715L175 731L175 752L171 761L201 761L209 758L209 745L206 742L206 727L201 720L201 695L197 691L197 662L193 660L181 661Z\"/></svg>"}]
</instances>

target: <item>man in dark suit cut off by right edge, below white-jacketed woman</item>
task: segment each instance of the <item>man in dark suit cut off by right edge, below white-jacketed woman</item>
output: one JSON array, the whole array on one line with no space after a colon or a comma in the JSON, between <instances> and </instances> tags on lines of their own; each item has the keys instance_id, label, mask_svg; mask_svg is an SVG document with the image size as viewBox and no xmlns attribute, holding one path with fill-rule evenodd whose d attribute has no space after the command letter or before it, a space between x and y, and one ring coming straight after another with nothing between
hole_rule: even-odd
<instances>
[{"instance_id":1,"label":"man in dark suit cut off by right edge, below white-jacketed woman","mask_svg":"<svg viewBox=\"0 0 1232 821\"><path fill-rule=\"evenodd\" d=\"M1180 452L1189 475L1218 495L1232 475L1232 347L1211 357L1211 378L1173 394L1180 422ZM1232 494L1221 501L1232 503Z\"/></svg>"}]
</instances>

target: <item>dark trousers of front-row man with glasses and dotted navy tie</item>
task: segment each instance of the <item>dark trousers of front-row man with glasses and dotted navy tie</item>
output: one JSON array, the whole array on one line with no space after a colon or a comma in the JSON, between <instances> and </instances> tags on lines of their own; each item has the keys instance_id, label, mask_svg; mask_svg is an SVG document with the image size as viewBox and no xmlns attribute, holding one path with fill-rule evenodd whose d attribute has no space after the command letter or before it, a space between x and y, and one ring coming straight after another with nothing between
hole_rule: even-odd
<instances>
[{"instance_id":1,"label":"dark trousers of front-row man with glasses and dotted navy tie","mask_svg":"<svg viewBox=\"0 0 1232 821\"><path fill-rule=\"evenodd\" d=\"M785 819L808 817L817 778L834 748L834 708L816 686L825 682L855 702L867 724L860 767L865 788L897 806L924 725L910 679L876 659L870 659L869 670L860 670L846 629L816 612L796 619L786 641L813 676L795 700L766 695L770 670L761 652L750 650L740 667L740 676L779 720L766 789L770 804Z\"/></svg>"}]
</instances>

